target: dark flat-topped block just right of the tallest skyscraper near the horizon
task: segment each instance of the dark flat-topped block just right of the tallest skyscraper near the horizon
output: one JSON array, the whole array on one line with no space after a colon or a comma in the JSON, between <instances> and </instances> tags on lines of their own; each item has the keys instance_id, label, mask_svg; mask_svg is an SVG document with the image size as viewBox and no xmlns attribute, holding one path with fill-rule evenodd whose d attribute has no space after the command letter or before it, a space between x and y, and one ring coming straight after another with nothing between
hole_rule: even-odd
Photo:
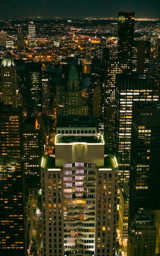
<instances>
[{"instance_id":1,"label":"dark flat-topped block just right of the tallest skyscraper near the horizon","mask_svg":"<svg viewBox=\"0 0 160 256\"><path fill-rule=\"evenodd\" d=\"M151 58L151 42L134 40L131 50L131 69L138 73L149 73Z\"/></svg>"}]
</instances>

